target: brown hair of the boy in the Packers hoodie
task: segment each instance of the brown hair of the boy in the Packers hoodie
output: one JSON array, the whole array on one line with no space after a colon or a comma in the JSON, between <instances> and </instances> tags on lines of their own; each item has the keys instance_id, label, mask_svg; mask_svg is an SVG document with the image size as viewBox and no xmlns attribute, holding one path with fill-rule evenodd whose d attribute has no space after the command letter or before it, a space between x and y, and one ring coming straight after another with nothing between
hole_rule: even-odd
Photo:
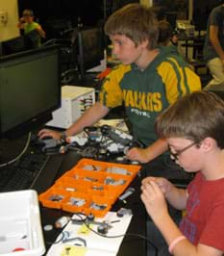
<instances>
[{"instance_id":1,"label":"brown hair of the boy in the Packers hoodie","mask_svg":"<svg viewBox=\"0 0 224 256\"><path fill-rule=\"evenodd\" d=\"M140 4L129 4L112 13L104 30L108 36L125 35L136 45L148 39L149 49L157 46L159 29L156 15L152 8Z\"/></svg>"}]
</instances>

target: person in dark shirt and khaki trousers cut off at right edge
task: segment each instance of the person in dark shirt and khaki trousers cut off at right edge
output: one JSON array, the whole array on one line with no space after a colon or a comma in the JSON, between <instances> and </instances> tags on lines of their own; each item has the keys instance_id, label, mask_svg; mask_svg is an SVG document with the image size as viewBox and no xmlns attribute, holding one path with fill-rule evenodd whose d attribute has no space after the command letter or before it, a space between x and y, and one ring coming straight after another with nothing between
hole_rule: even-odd
<instances>
[{"instance_id":1,"label":"person in dark shirt and khaki trousers cut off at right edge","mask_svg":"<svg viewBox=\"0 0 224 256\"><path fill-rule=\"evenodd\" d=\"M224 90L224 1L209 15L204 45L204 59L212 74L205 90Z\"/></svg>"}]
</instances>

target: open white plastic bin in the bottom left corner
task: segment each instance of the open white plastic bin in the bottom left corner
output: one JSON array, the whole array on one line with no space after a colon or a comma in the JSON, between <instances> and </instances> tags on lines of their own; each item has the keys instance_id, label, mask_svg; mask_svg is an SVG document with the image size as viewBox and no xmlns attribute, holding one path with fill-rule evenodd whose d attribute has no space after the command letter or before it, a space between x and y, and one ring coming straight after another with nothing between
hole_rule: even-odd
<instances>
[{"instance_id":1,"label":"open white plastic bin in the bottom left corner","mask_svg":"<svg viewBox=\"0 0 224 256\"><path fill-rule=\"evenodd\" d=\"M45 246L37 192L1 192L0 209L0 255L42 255Z\"/></svg>"}]
</instances>

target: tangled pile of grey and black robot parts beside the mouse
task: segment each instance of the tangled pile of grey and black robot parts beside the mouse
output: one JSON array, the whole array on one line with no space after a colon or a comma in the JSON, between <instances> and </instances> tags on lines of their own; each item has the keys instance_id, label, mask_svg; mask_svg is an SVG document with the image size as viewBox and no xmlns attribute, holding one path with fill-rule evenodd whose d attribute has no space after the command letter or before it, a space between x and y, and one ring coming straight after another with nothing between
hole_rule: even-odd
<instances>
[{"instance_id":1,"label":"tangled pile of grey and black robot parts beside the mouse","mask_svg":"<svg viewBox=\"0 0 224 256\"><path fill-rule=\"evenodd\" d=\"M73 137L68 137L68 143L62 144L60 152L75 150L82 157L104 159L110 155L126 154L133 147L142 147L143 144L122 130L109 125L89 126L84 132Z\"/></svg>"}]
</instances>

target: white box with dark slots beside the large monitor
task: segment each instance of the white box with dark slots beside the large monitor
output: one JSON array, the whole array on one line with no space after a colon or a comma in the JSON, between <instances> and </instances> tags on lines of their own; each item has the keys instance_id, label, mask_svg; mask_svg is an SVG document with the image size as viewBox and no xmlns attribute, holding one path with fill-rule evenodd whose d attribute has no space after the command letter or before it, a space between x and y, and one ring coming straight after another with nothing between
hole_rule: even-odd
<instances>
[{"instance_id":1,"label":"white box with dark slots beside the large monitor","mask_svg":"<svg viewBox=\"0 0 224 256\"><path fill-rule=\"evenodd\" d=\"M47 126L67 129L95 103L95 90L93 88L63 86L62 107L53 112L53 119Z\"/></svg>"}]
</instances>

